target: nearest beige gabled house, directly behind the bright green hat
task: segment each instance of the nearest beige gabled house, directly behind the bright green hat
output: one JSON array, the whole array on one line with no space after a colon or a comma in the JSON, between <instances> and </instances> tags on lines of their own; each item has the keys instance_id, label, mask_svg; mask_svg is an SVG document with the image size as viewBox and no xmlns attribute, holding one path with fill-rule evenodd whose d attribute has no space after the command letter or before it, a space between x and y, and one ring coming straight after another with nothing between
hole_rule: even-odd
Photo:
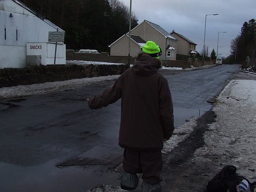
<instances>
[{"instance_id":1,"label":"nearest beige gabled house, directly behind the bright green hat","mask_svg":"<svg viewBox=\"0 0 256 192\"><path fill-rule=\"evenodd\" d=\"M136 38L134 38L135 36ZM146 41L152 40L162 50L160 59L176 60L177 39L157 24L143 20L131 30L131 39L131 56L133 57L136 57L141 52L141 48ZM129 34L125 34L109 46L110 55L127 56L129 53L128 45Z\"/></svg>"}]
</instances>

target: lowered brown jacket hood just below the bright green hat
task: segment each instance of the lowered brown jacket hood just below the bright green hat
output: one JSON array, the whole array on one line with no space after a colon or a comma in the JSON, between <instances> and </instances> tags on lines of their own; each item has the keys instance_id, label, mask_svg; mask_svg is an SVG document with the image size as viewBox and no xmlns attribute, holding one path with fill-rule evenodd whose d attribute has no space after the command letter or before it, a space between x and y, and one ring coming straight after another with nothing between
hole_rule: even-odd
<instances>
[{"instance_id":1,"label":"lowered brown jacket hood just below the bright green hat","mask_svg":"<svg viewBox=\"0 0 256 192\"><path fill-rule=\"evenodd\" d=\"M149 55L140 56L131 71L138 76L150 76L157 73L158 63Z\"/></svg>"}]
</instances>

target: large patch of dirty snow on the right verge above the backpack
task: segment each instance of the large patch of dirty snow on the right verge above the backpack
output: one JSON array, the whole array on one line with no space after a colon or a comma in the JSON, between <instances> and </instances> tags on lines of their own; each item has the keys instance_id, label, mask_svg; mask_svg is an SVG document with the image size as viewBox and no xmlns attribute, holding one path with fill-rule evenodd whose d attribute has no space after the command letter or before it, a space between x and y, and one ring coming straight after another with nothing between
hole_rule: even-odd
<instances>
[{"instance_id":1,"label":"large patch of dirty snow on the right verge above the backpack","mask_svg":"<svg viewBox=\"0 0 256 192\"><path fill-rule=\"evenodd\" d=\"M217 117L204 134L205 145L195 153L197 160L231 164L250 181L256 170L256 81L232 80L220 93L212 109ZM213 162L209 157L215 157ZM217 164L216 164L217 165Z\"/></svg>"}]
</instances>

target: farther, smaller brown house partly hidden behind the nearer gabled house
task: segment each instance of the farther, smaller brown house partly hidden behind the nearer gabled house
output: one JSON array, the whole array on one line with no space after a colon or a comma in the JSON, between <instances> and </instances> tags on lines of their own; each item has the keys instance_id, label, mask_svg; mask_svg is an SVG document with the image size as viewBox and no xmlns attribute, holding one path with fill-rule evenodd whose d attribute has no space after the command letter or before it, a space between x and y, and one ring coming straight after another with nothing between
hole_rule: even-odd
<instances>
[{"instance_id":1,"label":"farther, smaller brown house partly hidden behind the nearer gabled house","mask_svg":"<svg viewBox=\"0 0 256 192\"><path fill-rule=\"evenodd\" d=\"M183 35L173 31L170 33L172 36L174 36L177 41L177 54L181 55L188 55L188 56L195 56L197 54L196 52L196 46L195 42L189 40L188 38L184 37Z\"/></svg>"}]
</instances>

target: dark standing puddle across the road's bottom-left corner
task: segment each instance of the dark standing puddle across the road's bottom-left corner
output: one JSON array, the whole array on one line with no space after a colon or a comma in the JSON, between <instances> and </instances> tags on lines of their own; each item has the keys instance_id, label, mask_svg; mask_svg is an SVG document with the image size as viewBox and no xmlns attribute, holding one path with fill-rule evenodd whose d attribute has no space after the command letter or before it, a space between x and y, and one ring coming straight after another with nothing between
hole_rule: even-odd
<instances>
[{"instance_id":1,"label":"dark standing puddle across the road's bottom-left corner","mask_svg":"<svg viewBox=\"0 0 256 192\"><path fill-rule=\"evenodd\" d=\"M98 166L58 168L55 166L56 161L60 160L55 159L31 167L0 162L0 191L80 192L92 189L98 184L119 185L119 172L108 172L107 168Z\"/></svg>"}]
</instances>

